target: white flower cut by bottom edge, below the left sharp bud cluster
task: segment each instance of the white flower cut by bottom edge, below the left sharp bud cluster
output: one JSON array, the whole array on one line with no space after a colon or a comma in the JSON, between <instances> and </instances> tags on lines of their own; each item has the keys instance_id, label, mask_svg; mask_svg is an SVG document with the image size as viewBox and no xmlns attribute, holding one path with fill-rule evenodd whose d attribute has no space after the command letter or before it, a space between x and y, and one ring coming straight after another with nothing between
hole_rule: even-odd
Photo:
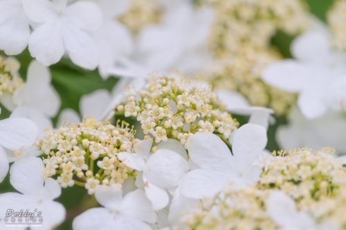
<instances>
[{"instance_id":1,"label":"white flower cut by bottom edge, below the left sharp bud cluster","mask_svg":"<svg viewBox=\"0 0 346 230\"><path fill-rule=\"evenodd\" d=\"M156 214L143 191L137 189L122 197L118 186L98 186L95 198L104 207L93 208L73 220L73 229L151 230L147 223L156 221Z\"/></svg>"}]
</instances>

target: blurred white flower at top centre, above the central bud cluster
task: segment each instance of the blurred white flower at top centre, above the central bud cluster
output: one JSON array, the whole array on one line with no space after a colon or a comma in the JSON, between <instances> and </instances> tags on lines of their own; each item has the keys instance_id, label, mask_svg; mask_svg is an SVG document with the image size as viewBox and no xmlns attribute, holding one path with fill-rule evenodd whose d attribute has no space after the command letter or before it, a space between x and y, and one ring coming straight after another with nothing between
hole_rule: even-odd
<instances>
[{"instance_id":1,"label":"blurred white flower at top centre, above the central bud cluster","mask_svg":"<svg viewBox=\"0 0 346 230\"><path fill-rule=\"evenodd\" d=\"M192 3L179 1L170 4L166 11L162 24L140 31L140 61L151 70L179 68L186 72L201 68L206 62L203 48L210 32L212 10L196 10Z\"/></svg>"}]
</instances>

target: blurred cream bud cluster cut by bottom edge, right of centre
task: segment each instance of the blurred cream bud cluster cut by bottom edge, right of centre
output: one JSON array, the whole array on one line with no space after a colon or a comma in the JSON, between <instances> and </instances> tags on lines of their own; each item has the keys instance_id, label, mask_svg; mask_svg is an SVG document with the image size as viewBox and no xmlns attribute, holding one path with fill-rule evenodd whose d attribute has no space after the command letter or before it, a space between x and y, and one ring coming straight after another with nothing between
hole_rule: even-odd
<instances>
[{"instance_id":1,"label":"blurred cream bud cluster cut by bottom edge, right of centre","mask_svg":"<svg viewBox=\"0 0 346 230\"><path fill-rule=\"evenodd\" d=\"M222 194L207 201L212 211L183 216L186 229L278 229L264 207L268 194L255 187L236 190L230 184Z\"/></svg>"}]
</instances>

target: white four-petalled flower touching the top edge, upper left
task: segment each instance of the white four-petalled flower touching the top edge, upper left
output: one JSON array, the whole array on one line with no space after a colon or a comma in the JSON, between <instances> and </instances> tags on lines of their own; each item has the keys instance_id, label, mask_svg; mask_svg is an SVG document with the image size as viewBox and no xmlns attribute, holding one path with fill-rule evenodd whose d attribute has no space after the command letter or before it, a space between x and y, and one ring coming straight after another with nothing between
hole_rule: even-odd
<instances>
[{"instance_id":1,"label":"white four-petalled flower touching the top edge, upper left","mask_svg":"<svg viewBox=\"0 0 346 230\"><path fill-rule=\"evenodd\" d=\"M66 50L74 64L87 69L98 66L98 48L88 34L97 29L102 12L96 3L77 1L23 0L29 19L42 25L29 39L29 51L45 66L55 64Z\"/></svg>"}]
</instances>

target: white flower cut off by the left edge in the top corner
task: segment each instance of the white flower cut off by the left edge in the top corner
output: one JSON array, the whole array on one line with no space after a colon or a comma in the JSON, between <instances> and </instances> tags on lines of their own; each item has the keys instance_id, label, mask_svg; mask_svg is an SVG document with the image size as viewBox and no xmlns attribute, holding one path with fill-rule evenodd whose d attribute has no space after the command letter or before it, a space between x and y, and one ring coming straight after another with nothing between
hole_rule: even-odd
<instances>
[{"instance_id":1,"label":"white flower cut off by the left edge in the top corner","mask_svg":"<svg viewBox=\"0 0 346 230\"><path fill-rule=\"evenodd\" d=\"M0 50L6 55L18 55L30 37L29 19L21 0L0 1Z\"/></svg>"}]
</instances>

